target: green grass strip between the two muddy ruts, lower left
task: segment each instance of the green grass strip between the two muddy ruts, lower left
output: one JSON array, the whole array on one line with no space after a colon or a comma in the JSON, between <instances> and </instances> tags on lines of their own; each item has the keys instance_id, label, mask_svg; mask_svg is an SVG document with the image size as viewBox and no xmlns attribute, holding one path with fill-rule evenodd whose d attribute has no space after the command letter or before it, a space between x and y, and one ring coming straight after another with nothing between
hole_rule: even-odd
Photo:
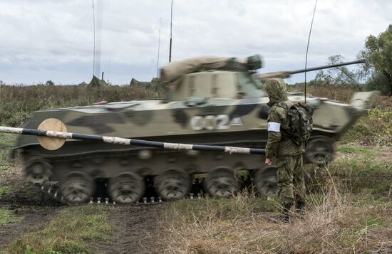
<instances>
[{"instance_id":1,"label":"green grass strip between the two muddy ruts, lower left","mask_svg":"<svg viewBox=\"0 0 392 254\"><path fill-rule=\"evenodd\" d=\"M44 228L14 240L6 253L92 253L87 241L107 242L113 233L107 217L105 206L62 208Z\"/></svg>"}]
</instances>

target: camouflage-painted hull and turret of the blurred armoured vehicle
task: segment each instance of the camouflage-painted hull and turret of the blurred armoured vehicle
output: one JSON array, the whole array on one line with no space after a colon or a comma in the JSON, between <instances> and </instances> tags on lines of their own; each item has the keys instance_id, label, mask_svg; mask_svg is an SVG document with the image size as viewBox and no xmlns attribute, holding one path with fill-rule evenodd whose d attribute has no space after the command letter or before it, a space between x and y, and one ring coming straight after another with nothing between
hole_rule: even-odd
<instances>
[{"instance_id":1,"label":"camouflage-painted hull and turret of the blurred armoured vehicle","mask_svg":"<svg viewBox=\"0 0 392 254\"><path fill-rule=\"evenodd\" d=\"M200 70L177 79L167 100L41 110L33 112L23 127L36 129L43 120L57 118L73 133L264 148L269 98L260 80L262 75L254 75L252 71ZM306 102L315 109L314 131L307 149L311 154L319 151L319 147L326 150L310 157L319 157L320 161L325 154L332 155L333 142L365 112L372 96L356 95L355 106L307 97ZM287 97L293 102L304 101L301 92L288 93ZM61 181L73 172L110 179L125 171L145 177L179 170L191 176L215 169L252 171L265 167L264 156L255 154L176 152L69 139L61 149L48 151L39 146L36 137L24 135L19 136L15 148L23 154L26 171L33 170L39 162L50 171L51 181Z\"/></svg>"}]
</instances>

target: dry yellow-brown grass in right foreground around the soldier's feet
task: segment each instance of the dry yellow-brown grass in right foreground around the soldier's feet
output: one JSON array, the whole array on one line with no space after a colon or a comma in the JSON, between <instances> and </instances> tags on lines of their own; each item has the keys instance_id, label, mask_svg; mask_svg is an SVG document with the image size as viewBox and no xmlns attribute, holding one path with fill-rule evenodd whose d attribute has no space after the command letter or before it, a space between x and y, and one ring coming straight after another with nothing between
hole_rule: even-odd
<instances>
[{"instance_id":1,"label":"dry yellow-brown grass in right foreground around the soldier's feet","mask_svg":"<svg viewBox=\"0 0 392 254\"><path fill-rule=\"evenodd\" d=\"M392 203L358 202L331 177L309 194L304 219L272 223L277 202L239 194L230 200L172 204L162 223L165 253L361 253L392 251ZM295 214L293 214L293 217Z\"/></svg>"}]
</instances>

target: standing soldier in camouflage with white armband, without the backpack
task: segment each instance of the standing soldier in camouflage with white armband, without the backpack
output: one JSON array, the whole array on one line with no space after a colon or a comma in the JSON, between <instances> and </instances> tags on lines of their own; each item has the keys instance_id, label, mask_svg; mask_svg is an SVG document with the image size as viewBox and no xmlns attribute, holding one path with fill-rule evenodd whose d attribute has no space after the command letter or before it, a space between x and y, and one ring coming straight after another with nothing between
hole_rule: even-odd
<instances>
[{"instance_id":1,"label":"standing soldier in camouflage with white armband, without the backpack","mask_svg":"<svg viewBox=\"0 0 392 254\"><path fill-rule=\"evenodd\" d=\"M289 137L290 122L287 109L294 102L287 98L286 84L282 79L272 78L264 84L268 92L271 107L268 113L268 140L265 164L272 164L272 157L277 158L278 195L282 201L282 216L272 217L273 221L289 222L289 211L296 204L302 211L304 208L304 171L302 168L302 154L305 151L304 142L296 144Z\"/></svg>"}]
</instances>

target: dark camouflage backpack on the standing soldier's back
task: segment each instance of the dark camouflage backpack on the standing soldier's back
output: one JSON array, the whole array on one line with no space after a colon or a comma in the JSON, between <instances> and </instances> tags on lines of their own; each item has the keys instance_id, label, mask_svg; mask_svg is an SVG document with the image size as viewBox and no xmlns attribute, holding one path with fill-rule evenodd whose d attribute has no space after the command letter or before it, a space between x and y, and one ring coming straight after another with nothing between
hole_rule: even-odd
<instances>
[{"instance_id":1,"label":"dark camouflage backpack on the standing soldier's back","mask_svg":"<svg viewBox=\"0 0 392 254\"><path fill-rule=\"evenodd\" d=\"M296 144L306 143L313 130L313 107L301 102L291 107L283 102L278 102L277 105L286 110L289 120L289 129L285 130L284 136L289 137Z\"/></svg>"}]
</instances>

